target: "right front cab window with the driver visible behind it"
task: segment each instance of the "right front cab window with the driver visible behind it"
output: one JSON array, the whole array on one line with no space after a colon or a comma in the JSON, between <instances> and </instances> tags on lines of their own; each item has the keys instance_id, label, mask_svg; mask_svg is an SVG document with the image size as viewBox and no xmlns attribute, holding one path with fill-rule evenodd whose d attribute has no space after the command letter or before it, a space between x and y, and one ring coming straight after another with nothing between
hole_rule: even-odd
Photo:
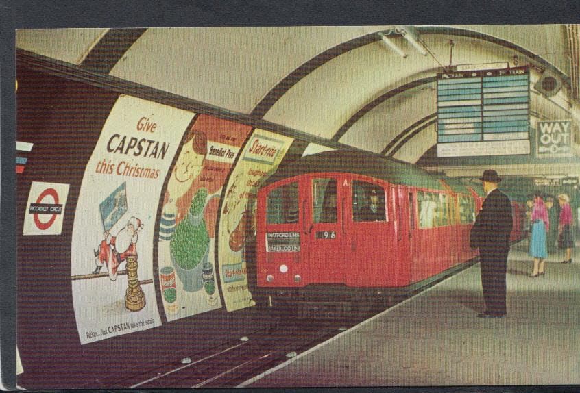
<instances>
[{"instance_id":1,"label":"right front cab window with the driver visible behind it","mask_svg":"<svg viewBox=\"0 0 580 393\"><path fill-rule=\"evenodd\" d=\"M352 215L354 221L386 221L385 190L365 181L352 181Z\"/></svg>"}]
</instances>

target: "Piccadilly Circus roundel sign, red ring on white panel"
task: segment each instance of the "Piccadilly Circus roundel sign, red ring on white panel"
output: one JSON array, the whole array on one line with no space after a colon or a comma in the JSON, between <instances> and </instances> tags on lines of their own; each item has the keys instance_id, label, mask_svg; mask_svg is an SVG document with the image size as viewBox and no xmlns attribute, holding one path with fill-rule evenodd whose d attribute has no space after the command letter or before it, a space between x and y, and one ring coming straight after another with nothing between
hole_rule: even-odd
<instances>
[{"instance_id":1,"label":"Piccadilly Circus roundel sign, red ring on white panel","mask_svg":"<svg viewBox=\"0 0 580 393\"><path fill-rule=\"evenodd\" d=\"M24 215L23 235L60 235L69 185L33 181Z\"/></svg>"}]
</instances>

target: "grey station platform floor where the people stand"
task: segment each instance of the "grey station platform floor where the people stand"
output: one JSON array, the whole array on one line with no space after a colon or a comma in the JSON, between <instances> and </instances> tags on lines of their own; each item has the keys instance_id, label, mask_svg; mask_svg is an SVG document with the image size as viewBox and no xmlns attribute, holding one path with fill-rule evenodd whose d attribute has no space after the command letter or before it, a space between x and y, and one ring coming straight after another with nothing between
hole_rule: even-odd
<instances>
[{"instance_id":1,"label":"grey station platform floor where the people stand","mask_svg":"<svg viewBox=\"0 0 580 393\"><path fill-rule=\"evenodd\" d=\"M580 247L528 277L511 247L507 316L484 309L479 264L240 386L580 385Z\"/></svg>"}]
</instances>

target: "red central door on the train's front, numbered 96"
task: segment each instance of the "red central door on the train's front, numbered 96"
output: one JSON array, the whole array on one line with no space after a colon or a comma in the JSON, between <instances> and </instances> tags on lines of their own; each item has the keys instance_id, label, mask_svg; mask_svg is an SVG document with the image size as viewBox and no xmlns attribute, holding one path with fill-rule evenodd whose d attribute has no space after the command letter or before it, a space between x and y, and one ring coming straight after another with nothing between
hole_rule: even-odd
<instances>
[{"instance_id":1,"label":"red central door on the train's front, numbered 96","mask_svg":"<svg viewBox=\"0 0 580 393\"><path fill-rule=\"evenodd\" d=\"M343 192L339 177L310 179L304 214L313 283L343 283Z\"/></svg>"}]
</instances>

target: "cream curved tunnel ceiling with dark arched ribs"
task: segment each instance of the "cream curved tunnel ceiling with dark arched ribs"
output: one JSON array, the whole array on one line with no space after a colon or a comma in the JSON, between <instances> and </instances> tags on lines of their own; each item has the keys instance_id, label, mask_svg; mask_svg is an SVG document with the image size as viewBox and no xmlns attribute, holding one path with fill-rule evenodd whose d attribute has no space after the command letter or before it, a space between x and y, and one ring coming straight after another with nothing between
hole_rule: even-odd
<instances>
[{"instance_id":1,"label":"cream curved tunnel ceiling with dark arched ribs","mask_svg":"<svg viewBox=\"0 0 580 393\"><path fill-rule=\"evenodd\" d=\"M450 64L450 40L454 65L531 63L533 81L544 68L562 79L570 74L564 25L417 27L435 58L391 35L407 53L402 58L376 34L391 28L21 30L16 42L95 72L407 162L435 144L434 77ZM558 105L570 106L564 89L553 99L536 97L531 110L553 118L561 113Z\"/></svg>"}]
</instances>

